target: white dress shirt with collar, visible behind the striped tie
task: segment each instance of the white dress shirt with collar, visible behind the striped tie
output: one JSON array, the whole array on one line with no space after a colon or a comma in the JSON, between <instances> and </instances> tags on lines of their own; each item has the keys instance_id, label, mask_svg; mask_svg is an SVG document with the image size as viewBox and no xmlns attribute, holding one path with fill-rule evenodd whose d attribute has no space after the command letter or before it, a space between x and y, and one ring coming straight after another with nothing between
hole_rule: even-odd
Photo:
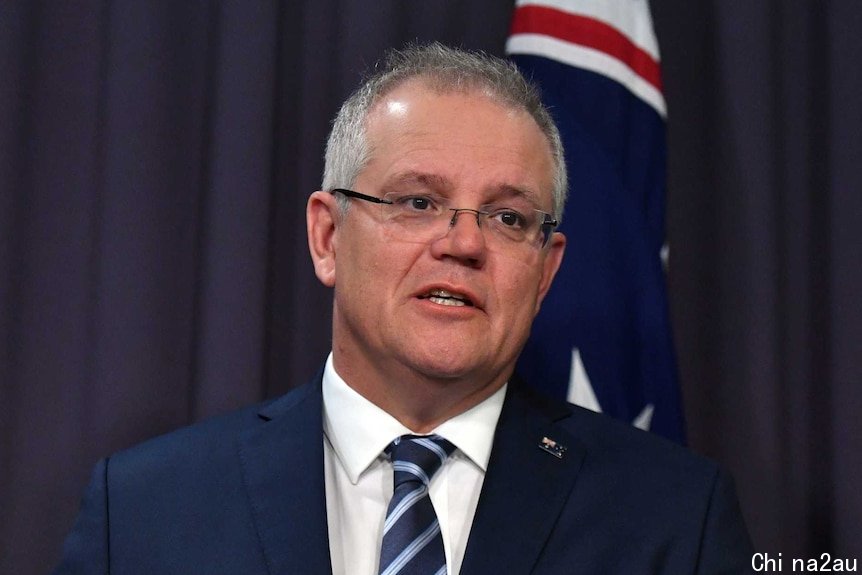
<instances>
[{"instance_id":1,"label":"white dress shirt with collar, visible behind the striped tie","mask_svg":"<svg viewBox=\"0 0 862 575\"><path fill-rule=\"evenodd\" d=\"M505 395L504 385L432 432L457 448L429 486L450 575L461 570ZM332 354L323 372L323 431L332 573L376 575L393 482L383 450L413 431L348 386L335 372Z\"/></svg>"}]
</instances>

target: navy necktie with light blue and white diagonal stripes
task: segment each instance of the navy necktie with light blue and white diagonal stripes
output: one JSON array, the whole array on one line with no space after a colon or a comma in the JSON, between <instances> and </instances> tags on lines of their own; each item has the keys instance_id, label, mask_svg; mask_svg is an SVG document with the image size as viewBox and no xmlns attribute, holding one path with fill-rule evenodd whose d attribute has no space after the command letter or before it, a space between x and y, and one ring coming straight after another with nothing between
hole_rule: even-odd
<instances>
[{"instance_id":1,"label":"navy necktie with light blue and white diagonal stripes","mask_svg":"<svg viewBox=\"0 0 862 575\"><path fill-rule=\"evenodd\" d=\"M428 484L453 451L455 446L439 435L402 435L386 448L395 485L383 525L380 575L446 575Z\"/></svg>"}]
</instances>

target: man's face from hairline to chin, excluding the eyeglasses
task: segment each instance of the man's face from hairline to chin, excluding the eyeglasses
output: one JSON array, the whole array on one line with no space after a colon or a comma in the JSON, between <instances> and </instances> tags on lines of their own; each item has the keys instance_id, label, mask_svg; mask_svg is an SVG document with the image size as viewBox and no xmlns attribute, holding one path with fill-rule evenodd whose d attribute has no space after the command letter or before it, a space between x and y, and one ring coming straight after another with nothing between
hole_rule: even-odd
<instances>
[{"instance_id":1,"label":"man's face from hairline to chin, excluding the eyeglasses","mask_svg":"<svg viewBox=\"0 0 862 575\"><path fill-rule=\"evenodd\" d=\"M372 110L367 137L371 160L357 192L415 190L471 209L525 195L553 211L545 137L528 114L481 93L441 94L408 82ZM326 196L320 201L331 211ZM439 234L417 242L395 233L380 206L350 201L343 220L333 217L327 261L315 257L318 277L335 287L337 367L358 372L354 377L407 373L444 384L501 385L559 267L563 236L554 234L545 249L504 248L487 225L462 212L454 226L444 223ZM468 305L429 297L442 293L435 290Z\"/></svg>"}]
</instances>

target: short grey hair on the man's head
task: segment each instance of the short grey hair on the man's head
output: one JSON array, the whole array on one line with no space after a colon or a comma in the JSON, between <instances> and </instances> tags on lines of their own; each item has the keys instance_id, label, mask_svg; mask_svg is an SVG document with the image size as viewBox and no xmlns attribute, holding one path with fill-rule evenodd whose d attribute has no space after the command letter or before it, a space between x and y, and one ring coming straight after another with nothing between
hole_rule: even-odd
<instances>
[{"instance_id":1,"label":"short grey hair on the man's head","mask_svg":"<svg viewBox=\"0 0 862 575\"><path fill-rule=\"evenodd\" d=\"M408 80L421 78L440 92L482 91L501 105L523 110L536 121L551 148L554 161L553 216L560 219L568 193L566 162L560 132L538 88L527 81L511 62L483 52L468 52L439 43L410 45L390 51L383 66L344 102L326 143L324 190L351 188L368 164L371 150L366 119L374 105ZM338 195L342 212L347 198Z\"/></svg>"}]
</instances>

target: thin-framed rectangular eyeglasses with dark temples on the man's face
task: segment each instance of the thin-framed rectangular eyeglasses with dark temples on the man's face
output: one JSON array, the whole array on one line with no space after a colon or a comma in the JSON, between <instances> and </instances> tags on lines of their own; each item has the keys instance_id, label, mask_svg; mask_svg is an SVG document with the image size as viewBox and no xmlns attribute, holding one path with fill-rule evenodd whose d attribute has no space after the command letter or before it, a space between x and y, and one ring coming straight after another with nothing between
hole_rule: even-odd
<instances>
[{"instance_id":1,"label":"thin-framed rectangular eyeglasses with dark temples on the man's face","mask_svg":"<svg viewBox=\"0 0 862 575\"><path fill-rule=\"evenodd\" d=\"M377 204L381 220L410 241L426 242L443 237L462 212L469 212L476 216L480 228L485 226L490 230L486 241L491 244L541 249L548 244L558 223L551 214L533 208L520 198L505 206L489 204L474 210L449 207L446 198L433 194L393 192L378 198L343 188L335 188L330 193ZM445 228L443 222L446 222Z\"/></svg>"}]
</instances>

